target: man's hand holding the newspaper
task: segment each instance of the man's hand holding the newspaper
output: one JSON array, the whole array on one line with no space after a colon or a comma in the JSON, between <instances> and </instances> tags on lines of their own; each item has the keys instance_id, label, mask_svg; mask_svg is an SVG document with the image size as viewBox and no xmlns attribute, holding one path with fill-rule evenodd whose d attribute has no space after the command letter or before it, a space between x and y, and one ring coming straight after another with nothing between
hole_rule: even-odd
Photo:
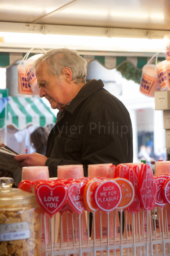
<instances>
[{"instance_id":1,"label":"man's hand holding the newspaper","mask_svg":"<svg viewBox=\"0 0 170 256\"><path fill-rule=\"evenodd\" d=\"M14 156L13 160L14 162L18 162L19 167L45 166L47 157L38 153L33 153L33 154L16 155Z\"/></svg>"}]
</instances>

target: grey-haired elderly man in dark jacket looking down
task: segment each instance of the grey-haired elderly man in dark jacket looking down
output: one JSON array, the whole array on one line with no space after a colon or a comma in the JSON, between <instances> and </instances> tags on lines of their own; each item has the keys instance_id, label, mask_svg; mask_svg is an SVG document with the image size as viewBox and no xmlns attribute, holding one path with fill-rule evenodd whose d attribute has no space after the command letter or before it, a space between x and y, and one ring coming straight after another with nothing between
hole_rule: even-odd
<instances>
[{"instance_id":1,"label":"grey-haired elderly man in dark jacket looking down","mask_svg":"<svg viewBox=\"0 0 170 256\"><path fill-rule=\"evenodd\" d=\"M132 124L126 107L103 87L101 80L86 83L87 63L77 51L50 50L35 63L40 97L59 109L50 131L46 154L17 155L19 166L133 162Z\"/></svg>"}]
</instances>

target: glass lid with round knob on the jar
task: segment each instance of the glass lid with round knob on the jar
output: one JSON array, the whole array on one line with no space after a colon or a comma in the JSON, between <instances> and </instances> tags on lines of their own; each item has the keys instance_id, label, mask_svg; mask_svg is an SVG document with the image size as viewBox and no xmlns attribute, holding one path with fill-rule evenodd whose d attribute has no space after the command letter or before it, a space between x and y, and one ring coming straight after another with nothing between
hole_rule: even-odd
<instances>
[{"instance_id":1,"label":"glass lid with round knob on the jar","mask_svg":"<svg viewBox=\"0 0 170 256\"><path fill-rule=\"evenodd\" d=\"M13 178L0 178L0 205L9 205L13 203L22 203L26 199L35 198L35 195L19 188L12 188Z\"/></svg>"}]
</instances>

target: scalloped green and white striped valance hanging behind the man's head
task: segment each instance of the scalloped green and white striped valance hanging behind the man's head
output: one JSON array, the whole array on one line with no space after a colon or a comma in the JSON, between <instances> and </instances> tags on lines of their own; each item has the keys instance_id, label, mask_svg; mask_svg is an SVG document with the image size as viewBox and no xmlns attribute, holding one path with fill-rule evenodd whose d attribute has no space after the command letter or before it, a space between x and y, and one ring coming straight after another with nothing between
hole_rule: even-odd
<instances>
[{"instance_id":1,"label":"scalloped green and white striped valance hanging behind the man's head","mask_svg":"<svg viewBox=\"0 0 170 256\"><path fill-rule=\"evenodd\" d=\"M35 55L35 53L30 53L29 57ZM25 53L20 52L0 52L0 67L8 68L12 66L16 61L22 59ZM86 59L87 63L93 60L97 60L104 67L108 69L113 69L119 67L125 62L131 63L135 68L142 69L142 67L148 62L151 57L130 57L130 56L95 56L95 55L81 55ZM165 58L159 58L159 61Z\"/></svg>"}]
</instances>

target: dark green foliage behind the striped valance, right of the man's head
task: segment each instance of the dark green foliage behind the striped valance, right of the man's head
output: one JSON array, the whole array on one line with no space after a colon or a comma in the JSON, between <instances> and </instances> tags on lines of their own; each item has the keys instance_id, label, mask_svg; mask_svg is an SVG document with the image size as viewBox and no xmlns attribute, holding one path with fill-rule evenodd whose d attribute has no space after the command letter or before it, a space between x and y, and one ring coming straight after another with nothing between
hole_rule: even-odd
<instances>
[{"instance_id":1,"label":"dark green foliage behind the striped valance, right of the man's head","mask_svg":"<svg viewBox=\"0 0 170 256\"><path fill-rule=\"evenodd\" d=\"M120 71L122 76L127 80L133 80L135 83L140 84L142 70L136 69L131 63L125 62L116 69Z\"/></svg>"}]
</instances>

